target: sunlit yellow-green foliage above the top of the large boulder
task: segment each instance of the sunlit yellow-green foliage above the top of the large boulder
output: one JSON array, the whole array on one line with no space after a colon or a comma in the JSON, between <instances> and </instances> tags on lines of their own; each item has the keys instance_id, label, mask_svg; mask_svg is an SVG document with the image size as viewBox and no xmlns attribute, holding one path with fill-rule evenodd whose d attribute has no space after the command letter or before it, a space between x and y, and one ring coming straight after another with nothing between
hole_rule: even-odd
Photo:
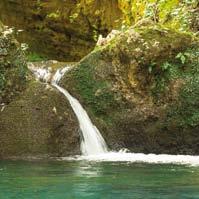
<instances>
[{"instance_id":1,"label":"sunlit yellow-green foliage above the top of the large boulder","mask_svg":"<svg viewBox=\"0 0 199 199\"><path fill-rule=\"evenodd\" d=\"M197 0L119 0L119 6L125 25L148 18L166 27L186 31L193 28L193 20L198 20L193 16Z\"/></svg>"}]
</instances>

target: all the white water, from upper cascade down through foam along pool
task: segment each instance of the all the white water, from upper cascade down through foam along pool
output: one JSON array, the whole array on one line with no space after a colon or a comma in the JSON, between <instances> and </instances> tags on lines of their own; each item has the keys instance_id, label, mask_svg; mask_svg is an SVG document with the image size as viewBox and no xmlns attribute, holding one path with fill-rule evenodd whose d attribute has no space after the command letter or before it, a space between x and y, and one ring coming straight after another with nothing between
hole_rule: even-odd
<instances>
[{"instance_id":1,"label":"all the white water, from upper cascade down through foam along pool","mask_svg":"<svg viewBox=\"0 0 199 199\"><path fill-rule=\"evenodd\" d=\"M58 85L65 72L70 70L66 67L62 70L57 70L52 78L52 85L56 87L61 93L65 95L71 104L71 107L79 121L82 132L81 151L82 156L65 157L63 160L88 160L88 161L112 161L112 162L145 162L145 163L160 163L160 164L185 164L192 166L199 166L199 156L191 155L156 155L143 153L129 153L125 150L119 152L108 151L106 143L101 136L99 130L92 124L88 114L81 106L79 101L72 97L68 91ZM33 71L38 79L46 82L45 77L49 77L49 71L38 69ZM42 76L42 77L41 77Z\"/></svg>"}]
</instances>

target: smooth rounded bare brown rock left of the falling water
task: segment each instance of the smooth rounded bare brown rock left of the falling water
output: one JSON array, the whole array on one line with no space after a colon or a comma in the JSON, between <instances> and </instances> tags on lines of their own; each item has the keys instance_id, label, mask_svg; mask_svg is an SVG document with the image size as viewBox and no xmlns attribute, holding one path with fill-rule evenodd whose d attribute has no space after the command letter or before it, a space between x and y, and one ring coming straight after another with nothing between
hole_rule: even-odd
<instances>
[{"instance_id":1,"label":"smooth rounded bare brown rock left of the falling water","mask_svg":"<svg viewBox=\"0 0 199 199\"><path fill-rule=\"evenodd\" d=\"M80 154L78 122L65 97L39 82L0 112L0 158Z\"/></svg>"}]
</instances>

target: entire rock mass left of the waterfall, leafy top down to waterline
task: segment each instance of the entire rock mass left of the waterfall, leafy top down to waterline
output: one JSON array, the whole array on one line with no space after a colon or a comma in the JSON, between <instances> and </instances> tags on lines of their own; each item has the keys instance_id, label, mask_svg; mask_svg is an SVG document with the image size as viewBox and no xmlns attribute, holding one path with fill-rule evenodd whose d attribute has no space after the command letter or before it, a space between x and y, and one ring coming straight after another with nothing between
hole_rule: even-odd
<instances>
[{"instance_id":1,"label":"entire rock mass left of the waterfall, leafy top down to waterline","mask_svg":"<svg viewBox=\"0 0 199 199\"><path fill-rule=\"evenodd\" d=\"M70 105L56 89L27 77L23 48L0 23L0 159L79 154Z\"/></svg>"}]
</instances>

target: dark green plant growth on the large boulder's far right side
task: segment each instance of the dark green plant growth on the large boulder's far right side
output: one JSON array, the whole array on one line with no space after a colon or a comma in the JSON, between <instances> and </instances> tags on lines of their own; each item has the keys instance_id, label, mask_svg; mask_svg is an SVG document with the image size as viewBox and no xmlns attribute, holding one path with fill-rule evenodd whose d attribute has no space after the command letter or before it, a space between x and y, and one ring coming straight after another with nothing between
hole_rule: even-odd
<instances>
[{"instance_id":1,"label":"dark green plant growth on the large boulder's far right side","mask_svg":"<svg viewBox=\"0 0 199 199\"><path fill-rule=\"evenodd\" d=\"M181 60L181 56L186 58ZM183 127L194 127L199 125L199 47L181 52L176 56L179 58L177 64L171 65L175 74L171 73L170 77L178 78L184 86L179 91L178 101L169 108L168 120Z\"/></svg>"}]
</instances>

